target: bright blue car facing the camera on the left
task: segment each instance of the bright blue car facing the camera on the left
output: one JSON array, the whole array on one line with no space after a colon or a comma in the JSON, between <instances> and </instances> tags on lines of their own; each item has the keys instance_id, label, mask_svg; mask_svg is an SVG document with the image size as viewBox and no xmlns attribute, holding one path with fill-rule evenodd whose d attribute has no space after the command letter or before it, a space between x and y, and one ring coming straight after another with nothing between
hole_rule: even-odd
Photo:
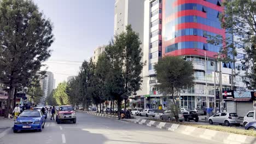
<instances>
[{"instance_id":1,"label":"bright blue car facing the camera on the left","mask_svg":"<svg viewBox=\"0 0 256 144\"><path fill-rule=\"evenodd\" d=\"M42 131L45 125L45 115L40 110L25 110L21 112L16 119L13 127L13 132L18 130L38 130Z\"/></svg>"}]
</instances>

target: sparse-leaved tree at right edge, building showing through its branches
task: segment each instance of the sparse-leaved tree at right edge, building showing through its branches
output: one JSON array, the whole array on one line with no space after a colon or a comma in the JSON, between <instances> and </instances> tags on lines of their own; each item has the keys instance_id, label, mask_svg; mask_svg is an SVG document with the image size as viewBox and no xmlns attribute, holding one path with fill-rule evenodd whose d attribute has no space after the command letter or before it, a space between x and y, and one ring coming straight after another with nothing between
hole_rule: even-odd
<instances>
[{"instance_id":1,"label":"sparse-leaved tree at right edge, building showing through its branches","mask_svg":"<svg viewBox=\"0 0 256 144\"><path fill-rule=\"evenodd\" d=\"M208 43L223 44L221 53L223 62L236 62L238 51L246 53L241 61L246 68L243 81L248 89L256 89L256 1L232 0L222 1L224 12L219 14L222 28L226 29L226 37L220 35L212 37ZM244 38L233 39L230 35L244 35Z\"/></svg>"}]
</instances>

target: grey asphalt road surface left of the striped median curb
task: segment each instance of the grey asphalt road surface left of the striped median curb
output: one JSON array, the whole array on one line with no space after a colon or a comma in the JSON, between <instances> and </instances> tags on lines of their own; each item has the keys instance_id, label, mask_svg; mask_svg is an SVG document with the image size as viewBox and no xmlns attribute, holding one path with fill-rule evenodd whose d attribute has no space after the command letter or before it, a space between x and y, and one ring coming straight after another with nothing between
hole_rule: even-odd
<instances>
[{"instance_id":1,"label":"grey asphalt road surface left of the striped median curb","mask_svg":"<svg viewBox=\"0 0 256 144\"><path fill-rule=\"evenodd\" d=\"M58 143L93 143L93 144L169 144L169 143L214 143L191 136L186 136L172 131L147 127L135 123L118 121L117 119L105 118L77 113L77 123L57 124L47 119L42 132L8 133L0 139L0 144L58 144Z\"/></svg>"}]
</instances>

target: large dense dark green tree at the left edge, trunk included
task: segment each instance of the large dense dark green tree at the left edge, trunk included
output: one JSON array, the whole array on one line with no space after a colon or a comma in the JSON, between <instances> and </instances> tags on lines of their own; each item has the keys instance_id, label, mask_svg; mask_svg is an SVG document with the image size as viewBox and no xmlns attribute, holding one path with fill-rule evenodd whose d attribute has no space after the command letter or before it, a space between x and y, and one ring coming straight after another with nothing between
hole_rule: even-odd
<instances>
[{"instance_id":1,"label":"large dense dark green tree at the left edge, trunk included","mask_svg":"<svg viewBox=\"0 0 256 144\"><path fill-rule=\"evenodd\" d=\"M42 62L50 57L52 25L32 1L0 1L0 82L11 92L19 83L36 75Z\"/></svg>"}]
</instances>

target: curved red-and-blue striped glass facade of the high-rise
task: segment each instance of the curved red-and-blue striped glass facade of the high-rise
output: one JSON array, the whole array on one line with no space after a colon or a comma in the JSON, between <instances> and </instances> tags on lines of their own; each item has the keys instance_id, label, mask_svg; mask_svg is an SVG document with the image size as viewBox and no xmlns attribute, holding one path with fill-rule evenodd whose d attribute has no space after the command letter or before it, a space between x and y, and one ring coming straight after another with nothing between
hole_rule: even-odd
<instances>
[{"instance_id":1,"label":"curved red-and-blue striped glass facade of the high-rise","mask_svg":"<svg viewBox=\"0 0 256 144\"><path fill-rule=\"evenodd\" d=\"M223 44L208 44L209 35L222 35L220 0L163 0L162 56L215 57ZM196 49L196 51L195 51Z\"/></svg>"}]
</instances>

